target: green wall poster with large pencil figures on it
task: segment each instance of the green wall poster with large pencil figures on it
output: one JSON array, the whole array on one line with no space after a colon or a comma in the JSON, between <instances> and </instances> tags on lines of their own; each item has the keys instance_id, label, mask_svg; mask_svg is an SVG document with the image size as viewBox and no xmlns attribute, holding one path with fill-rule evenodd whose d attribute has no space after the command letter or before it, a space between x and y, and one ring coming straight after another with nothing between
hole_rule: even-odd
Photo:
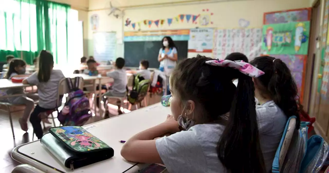
<instances>
[{"instance_id":1,"label":"green wall poster with large pencil figures on it","mask_svg":"<svg viewBox=\"0 0 329 173\"><path fill-rule=\"evenodd\" d=\"M264 25L262 49L265 54L306 55L309 32L309 21Z\"/></svg>"}]
</instances>

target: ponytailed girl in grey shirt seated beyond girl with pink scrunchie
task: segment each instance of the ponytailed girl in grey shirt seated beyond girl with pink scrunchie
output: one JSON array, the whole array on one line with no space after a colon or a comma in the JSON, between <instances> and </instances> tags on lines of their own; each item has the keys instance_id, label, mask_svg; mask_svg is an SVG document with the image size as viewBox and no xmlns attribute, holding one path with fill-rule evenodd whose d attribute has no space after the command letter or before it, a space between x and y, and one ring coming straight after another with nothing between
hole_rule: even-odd
<instances>
[{"instance_id":1,"label":"ponytailed girl in grey shirt seated beyond girl with pink scrunchie","mask_svg":"<svg viewBox=\"0 0 329 173\"><path fill-rule=\"evenodd\" d=\"M261 56L250 62L265 72L254 79L255 97L260 105L256 106L260 140L266 171L272 168L275 152L279 146L287 119L296 116L296 129L299 129L299 114L303 106L296 100L297 86L287 65L280 59Z\"/></svg>"}]
</instances>

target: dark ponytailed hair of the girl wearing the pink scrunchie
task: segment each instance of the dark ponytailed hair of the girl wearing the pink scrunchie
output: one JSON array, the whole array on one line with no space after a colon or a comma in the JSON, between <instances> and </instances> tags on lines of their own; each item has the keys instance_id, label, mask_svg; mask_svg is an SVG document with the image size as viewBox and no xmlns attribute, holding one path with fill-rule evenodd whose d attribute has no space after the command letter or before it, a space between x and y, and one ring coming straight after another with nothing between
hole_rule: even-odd
<instances>
[{"instance_id":1,"label":"dark ponytailed hair of the girl wearing the pink scrunchie","mask_svg":"<svg viewBox=\"0 0 329 173\"><path fill-rule=\"evenodd\" d=\"M208 60L212 58L200 55L181 60L170 76L172 92L182 106L188 100L194 101L195 109L202 112L206 122L226 122L225 130L218 134L216 150L228 172L263 173L252 78L230 67L207 65ZM232 82L236 78L237 87Z\"/></svg>"}]
</instances>

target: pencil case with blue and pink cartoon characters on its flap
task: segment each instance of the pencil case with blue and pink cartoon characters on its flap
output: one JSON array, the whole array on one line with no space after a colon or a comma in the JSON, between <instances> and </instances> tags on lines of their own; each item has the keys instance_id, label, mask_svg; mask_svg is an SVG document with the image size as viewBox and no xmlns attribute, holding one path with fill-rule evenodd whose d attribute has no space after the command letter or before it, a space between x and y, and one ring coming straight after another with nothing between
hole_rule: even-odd
<instances>
[{"instance_id":1,"label":"pencil case with blue and pink cartoon characters on its flap","mask_svg":"<svg viewBox=\"0 0 329 173\"><path fill-rule=\"evenodd\" d=\"M80 126L54 127L49 132L41 144L71 170L114 156L111 147Z\"/></svg>"}]
</instances>

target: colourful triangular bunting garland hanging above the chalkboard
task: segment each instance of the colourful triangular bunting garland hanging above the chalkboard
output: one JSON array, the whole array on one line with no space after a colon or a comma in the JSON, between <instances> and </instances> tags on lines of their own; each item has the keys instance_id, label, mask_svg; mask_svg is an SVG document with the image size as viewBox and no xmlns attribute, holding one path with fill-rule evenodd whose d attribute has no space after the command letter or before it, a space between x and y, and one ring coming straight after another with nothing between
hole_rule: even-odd
<instances>
[{"instance_id":1,"label":"colourful triangular bunting garland hanging above the chalkboard","mask_svg":"<svg viewBox=\"0 0 329 173\"><path fill-rule=\"evenodd\" d=\"M132 23L130 21L130 19L127 18L125 26L127 26L127 27L130 27L131 26L134 30L137 27L140 30L142 23L144 23L143 26L148 26L149 28L152 27L152 23L154 23L155 26L159 27L159 25L160 26L163 26L164 23L167 22L168 23L168 26L170 26L173 23L183 23L184 22L184 18L186 19L186 22L187 23L190 23L190 20L191 20L191 23L190 24L197 24L198 23L197 20L198 20L198 18L200 18L201 15L209 15L209 16L210 15L214 15L214 13L211 13L209 10L204 10L203 12L205 12L206 14L197 14L197 15L193 15L193 14L179 14L177 16L166 18L166 19L156 19L156 20L148 20L148 19L145 19L145 20L141 20L141 21L138 21L138 22L134 22L134 23ZM211 24L213 24L213 21L209 21L209 22Z\"/></svg>"}]
</instances>

